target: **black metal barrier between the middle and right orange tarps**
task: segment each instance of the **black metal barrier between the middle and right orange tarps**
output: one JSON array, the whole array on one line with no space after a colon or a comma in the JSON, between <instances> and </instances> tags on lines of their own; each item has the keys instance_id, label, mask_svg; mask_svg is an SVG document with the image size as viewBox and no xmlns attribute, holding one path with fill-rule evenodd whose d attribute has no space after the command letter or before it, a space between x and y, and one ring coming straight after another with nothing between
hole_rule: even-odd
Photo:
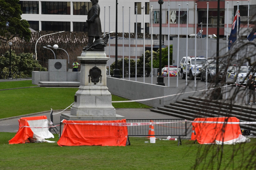
<instances>
[{"instance_id":1,"label":"black metal barrier between the middle and right orange tarps","mask_svg":"<svg viewBox=\"0 0 256 170\"><path fill-rule=\"evenodd\" d=\"M149 134L152 129L150 129L150 125L128 126L128 145L130 145L129 136L178 136L178 146L181 144L181 136L187 136L187 122L185 119L126 119L126 122L168 122L151 125L154 126L154 135Z\"/></svg>"}]
</instances>

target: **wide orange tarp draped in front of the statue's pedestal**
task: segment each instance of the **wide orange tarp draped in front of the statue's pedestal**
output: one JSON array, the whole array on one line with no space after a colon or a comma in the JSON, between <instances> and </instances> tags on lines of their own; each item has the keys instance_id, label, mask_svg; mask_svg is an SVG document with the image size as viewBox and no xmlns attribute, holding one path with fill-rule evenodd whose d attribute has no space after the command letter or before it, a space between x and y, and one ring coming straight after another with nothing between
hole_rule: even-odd
<instances>
[{"instance_id":1,"label":"wide orange tarp draped in front of the statue's pedestal","mask_svg":"<svg viewBox=\"0 0 256 170\"><path fill-rule=\"evenodd\" d=\"M81 125L86 123L122 122L126 122L126 119L110 121L63 120L63 132L57 144L59 146L126 146L127 126Z\"/></svg>"}]
</instances>

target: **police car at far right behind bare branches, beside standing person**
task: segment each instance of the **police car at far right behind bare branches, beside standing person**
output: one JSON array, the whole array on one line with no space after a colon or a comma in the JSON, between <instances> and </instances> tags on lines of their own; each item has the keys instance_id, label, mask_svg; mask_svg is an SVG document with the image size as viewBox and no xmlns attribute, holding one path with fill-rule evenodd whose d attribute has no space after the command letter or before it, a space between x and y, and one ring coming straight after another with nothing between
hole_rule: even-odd
<instances>
[{"instance_id":1,"label":"police car at far right behind bare branches, beside standing person","mask_svg":"<svg viewBox=\"0 0 256 170\"><path fill-rule=\"evenodd\" d=\"M248 74L253 75L253 79L256 77L255 69L248 66ZM241 66L240 68L236 65L227 68L227 84L238 84L245 85L249 76L247 76L247 66Z\"/></svg>"}]
</instances>

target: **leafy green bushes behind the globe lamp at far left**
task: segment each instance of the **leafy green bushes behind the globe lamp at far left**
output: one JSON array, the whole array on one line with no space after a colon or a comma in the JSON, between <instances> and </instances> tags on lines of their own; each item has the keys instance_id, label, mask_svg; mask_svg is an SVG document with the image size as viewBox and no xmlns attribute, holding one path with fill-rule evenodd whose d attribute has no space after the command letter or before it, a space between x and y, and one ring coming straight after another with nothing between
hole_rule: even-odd
<instances>
[{"instance_id":1,"label":"leafy green bushes behind the globe lamp at far left","mask_svg":"<svg viewBox=\"0 0 256 170\"><path fill-rule=\"evenodd\" d=\"M9 72L9 56L9 51L4 56L0 56L0 71L4 73ZM33 59L32 53L20 53L16 55L15 51L11 50L11 73L16 71L21 74L21 77L31 77L34 67L39 67L40 71L47 71L37 60Z\"/></svg>"}]
</instances>

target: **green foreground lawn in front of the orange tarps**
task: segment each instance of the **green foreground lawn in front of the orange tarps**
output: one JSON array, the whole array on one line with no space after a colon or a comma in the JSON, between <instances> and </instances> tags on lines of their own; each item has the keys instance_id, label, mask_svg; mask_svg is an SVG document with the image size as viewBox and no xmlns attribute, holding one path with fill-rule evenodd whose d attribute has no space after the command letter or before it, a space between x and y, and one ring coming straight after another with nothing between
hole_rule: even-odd
<instances>
[{"instance_id":1,"label":"green foreground lawn in front of the orange tarps","mask_svg":"<svg viewBox=\"0 0 256 170\"><path fill-rule=\"evenodd\" d=\"M144 143L149 141L146 137L129 137L130 146L61 147L57 143L8 145L15 133L0 135L1 169L187 170L194 169L194 165L197 165L195 169L255 169L255 156L250 157L251 152L255 152L255 138L251 138L250 143L223 146L182 140L182 145L177 146L177 141L156 140L152 144ZM58 141L58 135L54 135L55 138L49 140ZM248 164L250 167L246 167Z\"/></svg>"}]
</instances>

